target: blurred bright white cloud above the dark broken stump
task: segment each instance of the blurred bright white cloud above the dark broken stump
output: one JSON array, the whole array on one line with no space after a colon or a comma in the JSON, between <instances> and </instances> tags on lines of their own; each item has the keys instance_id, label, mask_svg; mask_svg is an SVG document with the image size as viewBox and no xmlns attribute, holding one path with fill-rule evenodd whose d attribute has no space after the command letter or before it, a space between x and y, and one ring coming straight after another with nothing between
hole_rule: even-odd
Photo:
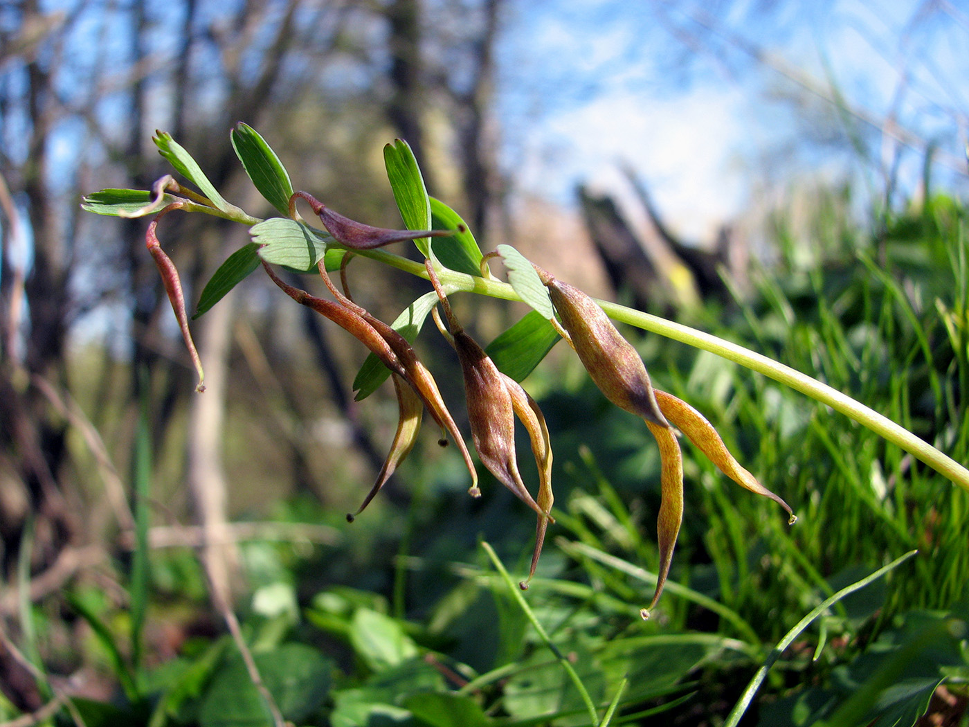
<instances>
[{"instance_id":1,"label":"blurred bright white cloud above the dark broken stump","mask_svg":"<svg viewBox=\"0 0 969 727\"><path fill-rule=\"evenodd\" d=\"M659 101L630 93L599 97L549 114L532 130L523 183L557 199L580 182L624 197L628 184L619 168L628 163L681 235L709 239L743 203L742 180L731 172L749 133L741 111L742 96L732 88L698 87Z\"/></svg>"}]
</instances>

